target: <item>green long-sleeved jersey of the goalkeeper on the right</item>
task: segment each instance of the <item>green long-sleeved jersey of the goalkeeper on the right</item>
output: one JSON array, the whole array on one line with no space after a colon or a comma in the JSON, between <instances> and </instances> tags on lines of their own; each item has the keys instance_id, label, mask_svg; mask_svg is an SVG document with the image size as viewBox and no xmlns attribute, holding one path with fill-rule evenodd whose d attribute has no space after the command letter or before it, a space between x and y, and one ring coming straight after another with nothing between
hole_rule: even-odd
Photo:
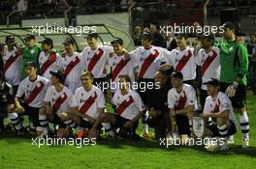
<instances>
[{"instance_id":1,"label":"green long-sleeved jersey of the goalkeeper on the right","mask_svg":"<svg viewBox=\"0 0 256 169\"><path fill-rule=\"evenodd\" d=\"M236 77L240 77L240 84L246 85L248 71L248 52L242 42L219 43L220 48L220 81L233 83Z\"/></svg>"}]
</instances>

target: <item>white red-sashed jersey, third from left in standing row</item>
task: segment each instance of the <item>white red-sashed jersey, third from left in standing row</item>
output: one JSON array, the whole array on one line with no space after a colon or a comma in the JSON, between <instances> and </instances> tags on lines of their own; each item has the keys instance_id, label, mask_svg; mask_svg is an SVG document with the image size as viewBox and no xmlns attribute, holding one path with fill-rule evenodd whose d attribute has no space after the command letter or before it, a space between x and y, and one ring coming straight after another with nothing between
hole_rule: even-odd
<instances>
[{"instance_id":1,"label":"white red-sashed jersey, third from left in standing row","mask_svg":"<svg viewBox=\"0 0 256 169\"><path fill-rule=\"evenodd\" d=\"M80 87L80 74L82 72L83 62L78 52L73 56L66 55L62 61L62 69L65 72L65 85L74 93Z\"/></svg>"}]
</instances>

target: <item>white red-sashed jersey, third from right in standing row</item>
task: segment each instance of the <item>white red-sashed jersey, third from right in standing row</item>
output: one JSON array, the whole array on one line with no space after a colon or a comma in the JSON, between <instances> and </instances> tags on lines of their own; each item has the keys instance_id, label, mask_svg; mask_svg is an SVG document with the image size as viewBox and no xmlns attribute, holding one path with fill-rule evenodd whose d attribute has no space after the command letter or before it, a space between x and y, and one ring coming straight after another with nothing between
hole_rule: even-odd
<instances>
[{"instance_id":1,"label":"white red-sashed jersey, third from right in standing row","mask_svg":"<svg viewBox=\"0 0 256 169\"><path fill-rule=\"evenodd\" d=\"M161 64L167 62L170 53L165 48L152 45L148 50L140 46L131 51L130 55L136 60L137 66L139 66L139 77L153 79L155 72L160 70Z\"/></svg>"}]
</instances>

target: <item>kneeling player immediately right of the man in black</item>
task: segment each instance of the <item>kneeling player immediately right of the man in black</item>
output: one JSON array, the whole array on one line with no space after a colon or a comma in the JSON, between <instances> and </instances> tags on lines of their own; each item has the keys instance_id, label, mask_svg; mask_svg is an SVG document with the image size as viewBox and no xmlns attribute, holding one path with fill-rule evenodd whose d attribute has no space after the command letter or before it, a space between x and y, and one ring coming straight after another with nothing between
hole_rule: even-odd
<instances>
[{"instance_id":1,"label":"kneeling player immediately right of the man in black","mask_svg":"<svg viewBox=\"0 0 256 169\"><path fill-rule=\"evenodd\" d=\"M191 135L194 109L197 108L196 92L191 85L183 84L183 75L174 71L171 76L173 89L168 92L172 135ZM168 138L167 137L167 138Z\"/></svg>"}]
</instances>

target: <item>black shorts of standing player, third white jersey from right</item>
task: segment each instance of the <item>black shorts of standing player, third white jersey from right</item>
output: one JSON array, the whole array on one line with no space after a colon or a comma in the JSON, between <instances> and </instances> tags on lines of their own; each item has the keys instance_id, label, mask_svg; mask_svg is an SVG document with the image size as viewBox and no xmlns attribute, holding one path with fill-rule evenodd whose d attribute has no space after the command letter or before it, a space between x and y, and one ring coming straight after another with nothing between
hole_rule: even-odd
<instances>
[{"instance_id":1,"label":"black shorts of standing player, third white jersey from right","mask_svg":"<svg viewBox=\"0 0 256 169\"><path fill-rule=\"evenodd\" d=\"M154 84L154 79L139 78L138 79L138 93L144 101L144 105L148 106L149 96L152 96L153 89L148 89L146 86L148 83ZM151 85L150 85L151 86Z\"/></svg>"}]
</instances>

